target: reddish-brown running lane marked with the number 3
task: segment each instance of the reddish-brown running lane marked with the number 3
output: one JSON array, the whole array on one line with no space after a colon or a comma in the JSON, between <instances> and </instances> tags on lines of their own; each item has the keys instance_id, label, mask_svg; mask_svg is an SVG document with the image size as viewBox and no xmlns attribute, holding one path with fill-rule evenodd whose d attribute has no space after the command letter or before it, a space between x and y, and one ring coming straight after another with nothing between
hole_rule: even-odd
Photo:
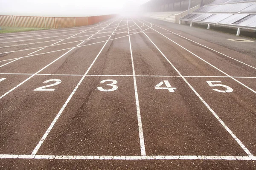
<instances>
[{"instance_id":1,"label":"reddish-brown running lane marked with the number 3","mask_svg":"<svg viewBox=\"0 0 256 170\"><path fill-rule=\"evenodd\" d=\"M124 42L123 50L129 51L127 40L123 39ZM116 43L120 41L107 42L90 68L104 59L105 53L116 55L111 48ZM123 58L109 60L119 63ZM128 64L132 68L131 62ZM108 67L112 65L99 68L104 73ZM86 74L73 96L75 100L70 100L38 154L140 155L132 77L87 77ZM111 82L113 85L108 85Z\"/></svg>"}]
</instances>

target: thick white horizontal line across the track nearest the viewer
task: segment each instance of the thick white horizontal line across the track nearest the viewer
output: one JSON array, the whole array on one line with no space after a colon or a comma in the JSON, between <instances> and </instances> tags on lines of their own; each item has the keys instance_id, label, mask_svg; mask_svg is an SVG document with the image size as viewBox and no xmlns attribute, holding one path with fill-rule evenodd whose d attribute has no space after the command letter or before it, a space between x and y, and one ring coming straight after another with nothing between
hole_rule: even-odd
<instances>
[{"instance_id":1,"label":"thick white horizontal line across the track nearest the viewer","mask_svg":"<svg viewBox=\"0 0 256 170\"><path fill-rule=\"evenodd\" d=\"M76 156L76 155L9 155L1 154L0 159L66 159L66 160L247 160L256 156L204 156L204 155L157 155L157 156Z\"/></svg>"}]
</instances>

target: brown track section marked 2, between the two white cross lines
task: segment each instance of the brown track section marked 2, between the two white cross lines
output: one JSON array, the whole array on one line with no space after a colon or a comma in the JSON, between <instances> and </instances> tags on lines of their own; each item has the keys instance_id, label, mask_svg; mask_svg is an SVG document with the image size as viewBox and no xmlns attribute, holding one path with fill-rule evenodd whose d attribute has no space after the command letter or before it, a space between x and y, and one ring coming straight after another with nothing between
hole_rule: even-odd
<instances>
[{"instance_id":1,"label":"brown track section marked 2, between the two white cross lines","mask_svg":"<svg viewBox=\"0 0 256 170\"><path fill-rule=\"evenodd\" d=\"M5 86L11 88L14 83L17 85L20 79L28 76L5 77L6 81L0 82L1 91ZM55 83L43 83L49 79L61 79L61 83L52 87L55 88L54 91L34 91L41 86ZM0 99L0 153L31 154L41 139L41 134L52 122L55 113L78 81L79 77L35 76L4 99Z\"/></svg>"}]
</instances>

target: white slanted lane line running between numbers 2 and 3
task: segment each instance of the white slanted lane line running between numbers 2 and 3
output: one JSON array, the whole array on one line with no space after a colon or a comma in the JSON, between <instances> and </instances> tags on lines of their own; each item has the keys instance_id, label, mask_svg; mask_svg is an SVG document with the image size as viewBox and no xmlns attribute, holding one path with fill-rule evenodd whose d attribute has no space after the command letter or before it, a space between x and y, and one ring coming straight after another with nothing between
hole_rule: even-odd
<instances>
[{"instance_id":1,"label":"white slanted lane line running between numbers 2 and 3","mask_svg":"<svg viewBox=\"0 0 256 170\"><path fill-rule=\"evenodd\" d=\"M117 27L116 27L117 28ZM87 69L87 71L85 72L85 74L83 75L83 77L80 79L79 83L76 85L76 87L74 88L74 90L72 91L72 93L70 94L70 96L68 97L67 101L64 103L64 105L62 106L61 110L58 112L58 114L55 116L55 118L53 119L51 125L48 127L48 129L46 130L46 132L44 133L43 137L41 138L41 140L38 142L38 144L36 145L35 149L32 151L31 155L35 155L39 148L41 147L41 145L44 143L44 140L47 138L48 134L50 133L50 131L52 130L52 127L55 125L55 123L57 122L58 118L61 116L61 113L64 111L64 109L66 108L67 104L69 103L70 99L73 97L73 95L75 94L76 90L79 88L79 85L81 84L81 82L84 80L84 78L86 77L87 73L90 71L90 69L92 68L94 62L96 61L96 59L99 57L99 55L101 54L103 48L105 47L105 45L108 43L108 41L105 42L105 44L103 45L102 49L99 51L99 54L95 57L95 59L93 60L93 62L91 63L90 67Z\"/></svg>"}]
</instances>

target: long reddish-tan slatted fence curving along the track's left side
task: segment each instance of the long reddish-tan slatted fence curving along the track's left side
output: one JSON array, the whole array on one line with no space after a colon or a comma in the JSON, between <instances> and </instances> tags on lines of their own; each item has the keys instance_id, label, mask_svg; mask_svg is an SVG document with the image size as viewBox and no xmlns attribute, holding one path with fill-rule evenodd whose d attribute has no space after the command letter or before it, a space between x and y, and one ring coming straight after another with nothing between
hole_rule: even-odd
<instances>
[{"instance_id":1,"label":"long reddish-tan slatted fence curving along the track's left side","mask_svg":"<svg viewBox=\"0 0 256 170\"><path fill-rule=\"evenodd\" d=\"M33 28L70 28L88 26L108 20L115 15L101 15L93 17L28 17L0 15L0 26L5 27L33 27Z\"/></svg>"}]
</instances>

